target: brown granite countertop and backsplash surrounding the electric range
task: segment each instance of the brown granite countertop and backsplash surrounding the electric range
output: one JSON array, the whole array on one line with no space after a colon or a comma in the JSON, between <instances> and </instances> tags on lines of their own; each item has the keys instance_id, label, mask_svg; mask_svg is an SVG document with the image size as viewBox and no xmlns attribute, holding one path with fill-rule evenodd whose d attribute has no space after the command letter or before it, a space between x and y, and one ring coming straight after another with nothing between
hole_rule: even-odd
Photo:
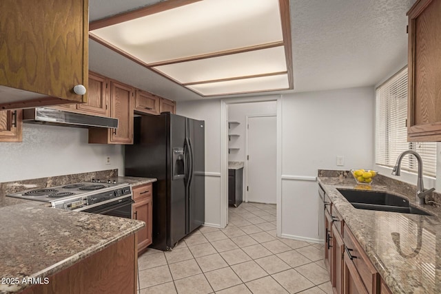
<instances>
[{"instance_id":1,"label":"brown granite countertop and backsplash surrounding the electric range","mask_svg":"<svg viewBox=\"0 0 441 294\"><path fill-rule=\"evenodd\" d=\"M114 173L115 174L115 173ZM145 222L47 207L37 201L6 197L22 191L105 178L96 173L2 183L0 187L0 278L48 277L132 235ZM143 185L154 178L108 176ZM0 293L21 291L27 284L0 283Z\"/></svg>"}]
</instances>

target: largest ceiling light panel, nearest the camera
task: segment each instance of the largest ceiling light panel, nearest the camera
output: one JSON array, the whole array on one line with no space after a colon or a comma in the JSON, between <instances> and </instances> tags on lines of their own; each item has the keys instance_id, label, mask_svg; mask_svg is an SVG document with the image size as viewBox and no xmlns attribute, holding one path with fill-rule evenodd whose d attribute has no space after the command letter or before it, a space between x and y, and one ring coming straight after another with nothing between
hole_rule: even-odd
<instances>
[{"instance_id":1,"label":"largest ceiling light panel, nearest the camera","mask_svg":"<svg viewBox=\"0 0 441 294\"><path fill-rule=\"evenodd\" d=\"M91 33L147 64L283 41L278 0L203 0Z\"/></svg>"}]
</instances>

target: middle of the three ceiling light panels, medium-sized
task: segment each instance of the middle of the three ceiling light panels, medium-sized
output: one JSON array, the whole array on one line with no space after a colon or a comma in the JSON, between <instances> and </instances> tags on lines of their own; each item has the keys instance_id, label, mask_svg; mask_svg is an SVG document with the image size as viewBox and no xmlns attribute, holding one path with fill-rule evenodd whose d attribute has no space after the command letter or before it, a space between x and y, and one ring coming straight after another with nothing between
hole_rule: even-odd
<instances>
[{"instance_id":1,"label":"middle of the three ceiling light panels, medium-sized","mask_svg":"<svg viewBox=\"0 0 441 294\"><path fill-rule=\"evenodd\" d=\"M283 46L153 68L183 84L287 71Z\"/></svg>"}]
</instances>

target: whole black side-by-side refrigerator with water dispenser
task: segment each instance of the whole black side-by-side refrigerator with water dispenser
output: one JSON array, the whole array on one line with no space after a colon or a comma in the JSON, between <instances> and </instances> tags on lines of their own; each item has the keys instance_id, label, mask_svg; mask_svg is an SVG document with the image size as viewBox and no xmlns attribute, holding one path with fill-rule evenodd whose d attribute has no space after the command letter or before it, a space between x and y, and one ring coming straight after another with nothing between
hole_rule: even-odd
<instances>
[{"instance_id":1,"label":"whole black side-by-side refrigerator with water dispenser","mask_svg":"<svg viewBox=\"0 0 441 294\"><path fill-rule=\"evenodd\" d=\"M134 118L125 176L153 183L150 247L167 251L205 221L205 122L165 112Z\"/></svg>"}]
</instances>

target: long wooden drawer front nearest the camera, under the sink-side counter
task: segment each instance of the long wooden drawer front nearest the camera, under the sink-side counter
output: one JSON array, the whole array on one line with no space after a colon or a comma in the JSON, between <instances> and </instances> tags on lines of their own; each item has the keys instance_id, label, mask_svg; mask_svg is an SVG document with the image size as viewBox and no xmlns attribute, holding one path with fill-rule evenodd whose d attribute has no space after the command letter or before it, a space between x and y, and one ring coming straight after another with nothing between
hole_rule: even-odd
<instances>
[{"instance_id":1,"label":"long wooden drawer front nearest the camera, under the sink-side counter","mask_svg":"<svg viewBox=\"0 0 441 294\"><path fill-rule=\"evenodd\" d=\"M348 251L353 257L351 260L356 267L358 274L361 277L363 284L367 288L368 293L378 293L380 291L380 275L378 275L376 269L371 264L365 251L362 250L360 244L358 244L356 238L352 235L347 226L343 228L343 240L345 240L345 249L348 255Z\"/></svg>"}]
</instances>

